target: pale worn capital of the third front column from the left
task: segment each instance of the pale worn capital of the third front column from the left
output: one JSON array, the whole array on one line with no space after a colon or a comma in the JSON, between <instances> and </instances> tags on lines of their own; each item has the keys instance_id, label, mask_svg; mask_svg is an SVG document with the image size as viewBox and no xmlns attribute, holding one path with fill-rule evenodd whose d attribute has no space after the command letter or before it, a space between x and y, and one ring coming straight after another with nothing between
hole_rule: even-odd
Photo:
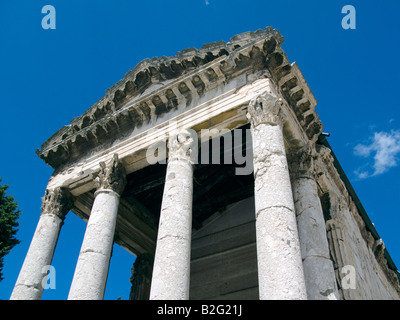
<instances>
[{"instance_id":1,"label":"pale worn capital of the third front column from the left","mask_svg":"<svg viewBox=\"0 0 400 320\"><path fill-rule=\"evenodd\" d=\"M171 160L187 160L191 164L194 163L193 159L196 155L195 146L196 142L193 130L183 129L174 133L168 139L168 161Z\"/></svg>"}]
</instances>

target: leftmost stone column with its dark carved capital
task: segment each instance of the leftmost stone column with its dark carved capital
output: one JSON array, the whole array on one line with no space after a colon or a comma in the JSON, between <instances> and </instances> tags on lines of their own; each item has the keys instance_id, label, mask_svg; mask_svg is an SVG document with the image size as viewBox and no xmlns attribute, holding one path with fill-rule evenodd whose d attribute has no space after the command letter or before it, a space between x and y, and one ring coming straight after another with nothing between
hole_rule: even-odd
<instances>
[{"instance_id":1,"label":"leftmost stone column with its dark carved capital","mask_svg":"<svg viewBox=\"0 0 400 320\"><path fill-rule=\"evenodd\" d=\"M67 189L46 190L42 214L22 265L11 300L39 300L65 215L73 205Z\"/></svg>"}]
</instances>

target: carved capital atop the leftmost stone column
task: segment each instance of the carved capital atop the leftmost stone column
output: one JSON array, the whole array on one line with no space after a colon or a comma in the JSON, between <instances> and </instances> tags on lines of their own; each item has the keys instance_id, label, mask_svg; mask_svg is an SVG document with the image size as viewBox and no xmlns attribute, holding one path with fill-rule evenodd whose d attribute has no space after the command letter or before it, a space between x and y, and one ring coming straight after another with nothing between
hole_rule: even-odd
<instances>
[{"instance_id":1,"label":"carved capital atop the leftmost stone column","mask_svg":"<svg viewBox=\"0 0 400 320\"><path fill-rule=\"evenodd\" d=\"M42 214L55 214L61 220L64 220L73 204L72 195L67 188L46 189L42 198Z\"/></svg>"}]
</instances>

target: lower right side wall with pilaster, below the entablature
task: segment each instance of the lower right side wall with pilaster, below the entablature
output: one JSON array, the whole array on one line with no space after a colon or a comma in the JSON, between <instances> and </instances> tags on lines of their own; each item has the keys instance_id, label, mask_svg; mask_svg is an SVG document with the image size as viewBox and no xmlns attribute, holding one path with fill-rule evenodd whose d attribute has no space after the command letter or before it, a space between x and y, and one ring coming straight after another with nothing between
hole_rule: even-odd
<instances>
[{"instance_id":1,"label":"lower right side wall with pilaster, below the entablature","mask_svg":"<svg viewBox=\"0 0 400 320\"><path fill-rule=\"evenodd\" d=\"M399 299L397 277L374 253L380 241L364 231L354 203L346 203L344 196L331 201L327 234L341 298Z\"/></svg>"}]
</instances>

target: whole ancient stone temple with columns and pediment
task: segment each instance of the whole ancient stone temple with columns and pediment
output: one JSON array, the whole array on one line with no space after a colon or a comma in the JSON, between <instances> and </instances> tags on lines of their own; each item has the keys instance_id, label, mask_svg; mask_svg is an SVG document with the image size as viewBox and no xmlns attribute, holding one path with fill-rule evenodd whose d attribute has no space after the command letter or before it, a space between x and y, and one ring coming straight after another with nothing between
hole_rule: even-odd
<instances>
[{"instance_id":1,"label":"whole ancient stone temple with columns and pediment","mask_svg":"<svg viewBox=\"0 0 400 320\"><path fill-rule=\"evenodd\" d=\"M65 215L87 228L68 299L399 299L399 273L267 28L146 59L37 153L54 168L11 299L40 299ZM129 270L121 270L128 272Z\"/></svg>"}]
</instances>

